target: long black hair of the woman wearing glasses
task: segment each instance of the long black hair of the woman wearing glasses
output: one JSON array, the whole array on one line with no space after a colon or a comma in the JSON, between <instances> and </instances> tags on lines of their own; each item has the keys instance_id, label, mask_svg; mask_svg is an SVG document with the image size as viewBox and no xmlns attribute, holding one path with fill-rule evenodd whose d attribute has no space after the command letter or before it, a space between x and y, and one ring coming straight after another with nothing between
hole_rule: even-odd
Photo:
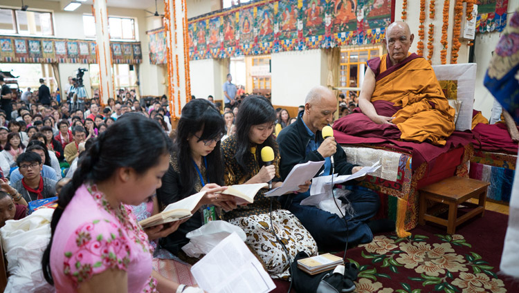
<instances>
[{"instance_id":1,"label":"long black hair of the woman wearing glasses","mask_svg":"<svg viewBox=\"0 0 519 293\"><path fill-rule=\"evenodd\" d=\"M176 139L174 151L181 170L181 197L189 196L192 188L199 178L197 170L194 169L192 155L188 138L194 133L201 131L200 140L217 140L225 132L224 118L219 111L208 100L191 100L182 108L179 124L176 126ZM217 141L215 149L206 155L207 174L209 182L224 185L224 162L221 159L220 140Z\"/></svg>"}]
</instances>

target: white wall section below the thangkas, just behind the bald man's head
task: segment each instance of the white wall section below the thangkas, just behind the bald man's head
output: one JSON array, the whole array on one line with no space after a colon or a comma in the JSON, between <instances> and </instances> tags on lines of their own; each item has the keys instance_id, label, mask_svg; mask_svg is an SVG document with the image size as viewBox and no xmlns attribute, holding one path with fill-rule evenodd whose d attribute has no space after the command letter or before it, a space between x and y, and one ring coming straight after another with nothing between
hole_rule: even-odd
<instances>
[{"instance_id":1,"label":"white wall section below the thangkas, just behind the bald man's head","mask_svg":"<svg viewBox=\"0 0 519 293\"><path fill-rule=\"evenodd\" d=\"M273 105L302 105L311 88L326 85L324 50L273 53L271 59Z\"/></svg>"}]
</instances>

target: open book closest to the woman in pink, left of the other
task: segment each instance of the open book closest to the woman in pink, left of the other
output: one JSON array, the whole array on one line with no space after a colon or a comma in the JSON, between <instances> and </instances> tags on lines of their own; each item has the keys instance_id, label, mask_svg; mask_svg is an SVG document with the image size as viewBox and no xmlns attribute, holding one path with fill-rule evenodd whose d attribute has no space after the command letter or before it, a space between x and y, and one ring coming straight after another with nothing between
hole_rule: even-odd
<instances>
[{"instance_id":1,"label":"open book closest to the woman in pink, left of the other","mask_svg":"<svg viewBox=\"0 0 519 293\"><path fill-rule=\"evenodd\" d=\"M174 222L176 220L182 220L192 216L191 211L197 207L199 201L206 195L206 191L200 191L194 193L192 196L188 196L178 202L173 202L161 212L139 222L143 228L153 227L164 223Z\"/></svg>"}]
</instances>

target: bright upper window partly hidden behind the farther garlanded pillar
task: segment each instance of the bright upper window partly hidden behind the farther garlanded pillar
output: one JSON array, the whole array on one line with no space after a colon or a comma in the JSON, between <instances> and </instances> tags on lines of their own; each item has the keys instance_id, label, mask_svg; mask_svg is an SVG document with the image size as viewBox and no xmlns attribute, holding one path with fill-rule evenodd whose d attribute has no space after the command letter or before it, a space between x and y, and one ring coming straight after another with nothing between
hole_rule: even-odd
<instances>
[{"instance_id":1,"label":"bright upper window partly hidden behind the farther garlanded pillar","mask_svg":"<svg viewBox=\"0 0 519 293\"><path fill-rule=\"evenodd\" d=\"M135 19L124 17L108 17L110 39L136 39ZM83 31L85 37L95 37L95 17L83 15Z\"/></svg>"}]
</instances>

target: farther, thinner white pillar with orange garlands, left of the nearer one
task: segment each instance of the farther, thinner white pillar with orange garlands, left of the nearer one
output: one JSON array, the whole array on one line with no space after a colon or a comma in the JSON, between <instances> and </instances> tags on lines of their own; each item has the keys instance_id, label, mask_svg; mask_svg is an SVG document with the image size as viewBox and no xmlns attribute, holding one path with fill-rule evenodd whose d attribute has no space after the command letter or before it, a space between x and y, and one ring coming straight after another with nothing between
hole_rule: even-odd
<instances>
[{"instance_id":1,"label":"farther, thinner white pillar with orange garlands, left of the nearer one","mask_svg":"<svg viewBox=\"0 0 519 293\"><path fill-rule=\"evenodd\" d=\"M99 96L100 103L107 104L109 97L115 98L113 86L110 35L108 31L107 0L93 1L93 15L95 17L95 56L99 64Z\"/></svg>"}]
</instances>

